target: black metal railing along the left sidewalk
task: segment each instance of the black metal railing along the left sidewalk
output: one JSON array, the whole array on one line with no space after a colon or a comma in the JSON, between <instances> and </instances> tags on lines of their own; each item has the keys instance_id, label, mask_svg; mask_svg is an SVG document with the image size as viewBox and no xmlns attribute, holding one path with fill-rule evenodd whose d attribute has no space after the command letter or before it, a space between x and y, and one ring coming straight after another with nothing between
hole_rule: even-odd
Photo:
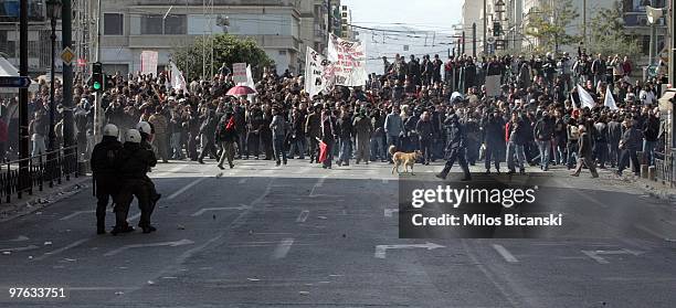
<instances>
[{"instance_id":1,"label":"black metal railing along the left sidewalk","mask_svg":"<svg viewBox=\"0 0 676 308\"><path fill-rule=\"evenodd\" d=\"M46 184L53 188L63 180L78 177L77 146L61 148L40 156L12 160L0 166L0 202L11 202L15 194L43 191Z\"/></svg>"}]
</instances>

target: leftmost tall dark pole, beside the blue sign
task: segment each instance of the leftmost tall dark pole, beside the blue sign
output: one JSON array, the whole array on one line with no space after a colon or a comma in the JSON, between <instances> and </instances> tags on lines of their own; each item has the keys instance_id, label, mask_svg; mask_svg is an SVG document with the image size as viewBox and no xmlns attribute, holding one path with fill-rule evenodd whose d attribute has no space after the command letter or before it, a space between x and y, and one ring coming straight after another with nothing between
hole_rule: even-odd
<instances>
[{"instance_id":1,"label":"leftmost tall dark pole, beside the blue sign","mask_svg":"<svg viewBox=\"0 0 676 308\"><path fill-rule=\"evenodd\" d=\"M21 0L19 7L19 75L28 76L28 2ZM52 76L54 78L54 76ZM28 88L19 89L19 189L28 187L29 176L29 114L28 114Z\"/></svg>"}]
</instances>

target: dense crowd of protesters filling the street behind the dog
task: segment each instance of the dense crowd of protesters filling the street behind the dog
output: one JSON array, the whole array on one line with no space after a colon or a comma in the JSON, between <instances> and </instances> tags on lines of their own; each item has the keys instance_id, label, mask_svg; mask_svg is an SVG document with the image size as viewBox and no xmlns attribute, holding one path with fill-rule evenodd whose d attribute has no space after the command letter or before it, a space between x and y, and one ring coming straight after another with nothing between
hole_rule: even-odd
<instances>
[{"instance_id":1,"label":"dense crowd of protesters filling the street behind the dog","mask_svg":"<svg viewBox=\"0 0 676 308\"><path fill-rule=\"evenodd\" d=\"M486 172L525 172L525 166L552 164L575 169L585 166L638 171L638 152L654 163L663 127L656 97L656 81L632 83L633 64L625 56L568 53L543 56L450 56L399 54L383 57L382 74L371 74L363 87L336 86L308 97L303 76L288 71L278 75L264 70L252 96L229 96L235 86L230 70L208 81L192 81L186 89L173 89L167 73L108 79L102 97L105 124L119 131L147 121L159 161L193 160L230 168L236 159L288 159L319 162L319 142L327 145L332 163L347 166L387 162L388 147L421 150L420 162L444 159L448 119L460 119L463 147L471 164L483 161ZM500 76L500 93L486 95L486 76ZM582 85L596 107L582 108L574 85ZM56 83L56 138L62 140L62 94ZM603 106L606 88L619 109ZM49 86L41 82L30 99L32 153L46 149L49 135ZM77 76L74 85L75 139L82 157L88 157L94 140L93 89ZM18 150L18 99L2 102L0 144L3 157ZM103 126L102 125L102 126Z\"/></svg>"}]
</instances>

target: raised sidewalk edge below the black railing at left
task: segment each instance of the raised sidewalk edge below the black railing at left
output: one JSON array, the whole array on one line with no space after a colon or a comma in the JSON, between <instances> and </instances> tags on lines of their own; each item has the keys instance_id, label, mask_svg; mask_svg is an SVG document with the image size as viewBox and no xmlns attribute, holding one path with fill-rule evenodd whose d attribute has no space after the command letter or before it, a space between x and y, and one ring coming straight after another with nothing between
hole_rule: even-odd
<instances>
[{"instance_id":1,"label":"raised sidewalk edge below the black railing at left","mask_svg":"<svg viewBox=\"0 0 676 308\"><path fill-rule=\"evenodd\" d=\"M54 203L71 198L83 190L91 187L87 182L92 177L82 176L77 179L72 179L65 184L43 190L42 192L33 193L24 199L17 199L10 203L0 204L0 223L14 220L20 216L28 215L45 209Z\"/></svg>"}]
</instances>

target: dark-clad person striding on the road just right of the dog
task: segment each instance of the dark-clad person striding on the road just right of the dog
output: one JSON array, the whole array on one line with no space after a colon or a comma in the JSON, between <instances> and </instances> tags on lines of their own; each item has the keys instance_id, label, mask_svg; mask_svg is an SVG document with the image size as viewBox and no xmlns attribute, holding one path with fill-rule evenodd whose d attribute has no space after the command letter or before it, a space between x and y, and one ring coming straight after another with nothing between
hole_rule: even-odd
<instances>
[{"instance_id":1,"label":"dark-clad person striding on the road just right of the dog","mask_svg":"<svg viewBox=\"0 0 676 308\"><path fill-rule=\"evenodd\" d=\"M444 170L436 174L437 178L445 180L446 176L453 168L453 163L455 160L458 161L465 177L462 181L472 180L472 176L469 174L469 167L467 166L467 159L465 158L465 153L467 150L467 136L465 132L465 128L460 123L456 114L452 114L444 121L444 130L446 132L446 166Z\"/></svg>"}]
</instances>

